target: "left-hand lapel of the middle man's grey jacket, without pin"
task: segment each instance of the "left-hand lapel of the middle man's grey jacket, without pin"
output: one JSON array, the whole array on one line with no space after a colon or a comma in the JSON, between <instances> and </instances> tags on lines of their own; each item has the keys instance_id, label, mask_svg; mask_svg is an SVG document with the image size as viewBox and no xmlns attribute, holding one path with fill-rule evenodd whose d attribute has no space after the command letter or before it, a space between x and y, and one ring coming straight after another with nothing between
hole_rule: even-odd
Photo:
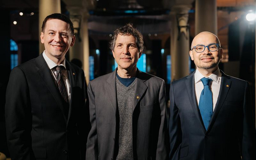
<instances>
[{"instance_id":1,"label":"left-hand lapel of the middle man's grey jacket, without pin","mask_svg":"<svg viewBox=\"0 0 256 160\"><path fill-rule=\"evenodd\" d=\"M109 92L107 93L110 102L112 104L112 108L114 110L114 113L116 113L116 108L117 108L117 100L116 100L116 71L117 69L112 72L108 79L107 82L109 83L109 85L107 86Z\"/></svg>"}]
</instances>

